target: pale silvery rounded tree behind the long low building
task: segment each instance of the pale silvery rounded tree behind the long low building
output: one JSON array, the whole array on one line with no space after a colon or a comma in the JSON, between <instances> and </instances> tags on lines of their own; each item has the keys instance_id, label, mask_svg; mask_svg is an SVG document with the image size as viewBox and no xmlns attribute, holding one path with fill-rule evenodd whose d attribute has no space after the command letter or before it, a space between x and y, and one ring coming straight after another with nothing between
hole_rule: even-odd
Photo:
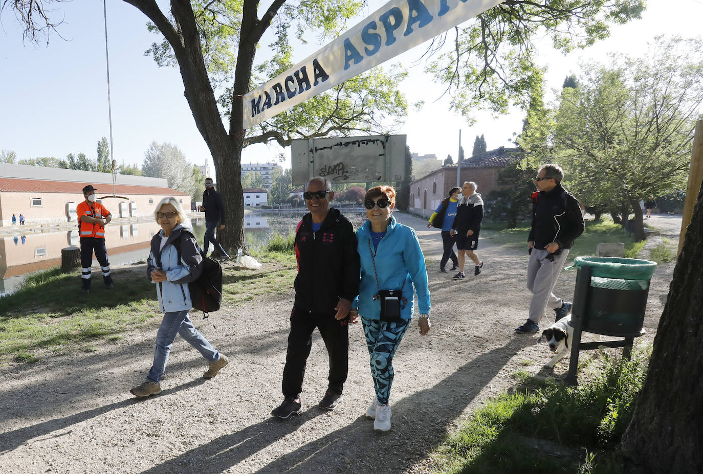
<instances>
[{"instance_id":1,"label":"pale silvery rounded tree behind the long low building","mask_svg":"<svg viewBox=\"0 0 703 474\"><path fill-rule=\"evenodd\" d=\"M193 194L193 164L188 163L186 155L172 143L152 142L144 153L141 171L143 176L166 178L171 189Z\"/></svg>"}]
</instances>

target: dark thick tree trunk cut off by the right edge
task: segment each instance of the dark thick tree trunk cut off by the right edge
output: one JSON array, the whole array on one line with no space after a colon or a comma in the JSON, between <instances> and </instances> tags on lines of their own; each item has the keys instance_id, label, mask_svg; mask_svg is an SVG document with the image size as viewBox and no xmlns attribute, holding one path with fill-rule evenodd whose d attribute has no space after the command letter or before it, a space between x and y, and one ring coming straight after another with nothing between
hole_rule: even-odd
<instances>
[{"instance_id":1,"label":"dark thick tree trunk cut off by the right edge","mask_svg":"<svg viewBox=\"0 0 703 474\"><path fill-rule=\"evenodd\" d=\"M626 472L703 473L703 187L659 320L647 380L621 440Z\"/></svg>"}]
</instances>

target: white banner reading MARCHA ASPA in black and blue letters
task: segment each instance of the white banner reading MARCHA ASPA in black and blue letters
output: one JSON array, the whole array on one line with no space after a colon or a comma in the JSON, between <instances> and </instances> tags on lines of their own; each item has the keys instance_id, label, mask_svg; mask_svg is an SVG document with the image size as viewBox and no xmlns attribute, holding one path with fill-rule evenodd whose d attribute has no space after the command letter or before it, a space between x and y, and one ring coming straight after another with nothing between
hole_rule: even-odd
<instances>
[{"instance_id":1,"label":"white banner reading MARCHA ASPA in black and blue letters","mask_svg":"<svg viewBox=\"0 0 703 474\"><path fill-rule=\"evenodd\" d=\"M248 129L483 13L503 0L391 0L243 98Z\"/></svg>"}]
</instances>

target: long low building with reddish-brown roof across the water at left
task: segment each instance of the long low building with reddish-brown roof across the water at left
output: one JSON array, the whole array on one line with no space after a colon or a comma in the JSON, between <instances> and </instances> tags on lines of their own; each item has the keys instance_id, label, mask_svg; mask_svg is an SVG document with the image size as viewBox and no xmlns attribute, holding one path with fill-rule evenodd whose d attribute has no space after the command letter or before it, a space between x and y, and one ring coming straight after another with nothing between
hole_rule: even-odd
<instances>
[{"instance_id":1,"label":"long low building with reddish-brown roof across the water at left","mask_svg":"<svg viewBox=\"0 0 703 474\"><path fill-rule=\"evenodd\" d=\"M22 214L27 225L75 221L75 206L84 201L86 184L96 187L113 218L153 216L156 204L167 196L179 199L186 211L191 209L191 196L167 187L165 178L117 175L113 186L112 173L1 163L0 225L12 225L13 214Z\"/></svg>"}]
</instances>

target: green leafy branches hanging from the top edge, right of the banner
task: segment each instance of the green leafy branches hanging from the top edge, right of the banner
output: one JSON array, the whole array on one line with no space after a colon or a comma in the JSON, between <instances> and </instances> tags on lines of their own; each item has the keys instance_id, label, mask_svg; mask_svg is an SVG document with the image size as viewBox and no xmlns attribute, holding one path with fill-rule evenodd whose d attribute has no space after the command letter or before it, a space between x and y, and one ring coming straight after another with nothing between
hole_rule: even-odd
<instances>
[{"instance_id":1,"label":"green leafy branches hanging from the top edge, right of the banner","mask_svg":"<svg viewBox=\"0 0 703 474\"><path fill-rule=\"evenodd\" d=\"M451 107L469 119L478 109L527 109L541 87L534 57L545 33L558 51L569 53L607 38L610 25L640 18L644 8L644 0L507 0L456 27L453 48L428 70L447 84Z\"/></svg>"}]
</instances>

